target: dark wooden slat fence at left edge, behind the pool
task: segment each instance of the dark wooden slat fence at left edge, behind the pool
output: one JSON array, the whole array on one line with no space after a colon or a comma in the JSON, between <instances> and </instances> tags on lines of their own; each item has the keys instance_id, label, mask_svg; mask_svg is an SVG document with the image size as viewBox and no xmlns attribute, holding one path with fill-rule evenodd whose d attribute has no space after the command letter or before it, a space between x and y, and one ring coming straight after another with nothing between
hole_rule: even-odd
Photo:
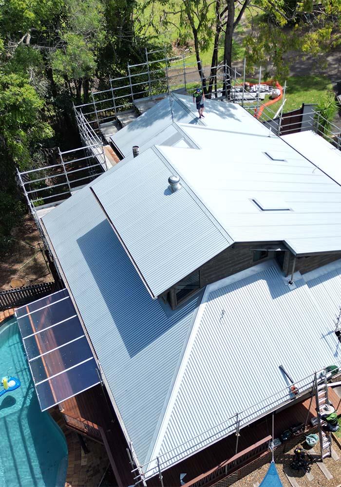
<instances>
[{"instance_id":1,"label":"dark wooden slat fence at left edge, behind the pool","mask_svg":"<svg viewBox=\"0 0 341 487\"><path fill-rule=\"evenodd\" d=\"M57 291L56 282L41 282L32 286L0 291L0 311L23 306Z\"/></svg>"}]
</instances>

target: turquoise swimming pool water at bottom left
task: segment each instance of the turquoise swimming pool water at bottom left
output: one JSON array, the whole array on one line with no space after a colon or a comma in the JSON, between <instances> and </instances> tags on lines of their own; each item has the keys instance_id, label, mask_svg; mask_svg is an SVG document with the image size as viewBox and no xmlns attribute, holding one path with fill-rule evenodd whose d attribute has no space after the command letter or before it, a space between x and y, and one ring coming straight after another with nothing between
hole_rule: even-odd
<instances>
[{"instance_id":1,"label":"turquoise swimming pool water at bottom left","mask_svg":"<svg viewBox=\"0 0 341 487\"><path fill-rule=\"evenodd\" d=\"M18 377L21 387L0 397L0 486L64 486L65 436L40 411L15 318L0 326L0 380L7 374Z\"/></svg>"}]
</instances>

